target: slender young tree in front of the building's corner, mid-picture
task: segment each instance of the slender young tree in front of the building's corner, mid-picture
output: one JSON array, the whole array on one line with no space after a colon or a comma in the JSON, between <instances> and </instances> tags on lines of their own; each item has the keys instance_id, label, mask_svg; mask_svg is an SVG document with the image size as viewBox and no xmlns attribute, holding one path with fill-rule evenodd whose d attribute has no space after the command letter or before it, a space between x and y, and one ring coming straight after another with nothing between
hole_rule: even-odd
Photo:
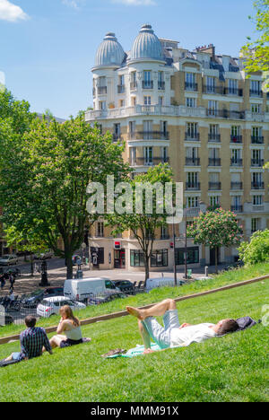
<instances>
[{"instance_id":1,"label":"slender young tree in front of the building's corner, mid-picture","mask_svg":"<svg viewBox=\"0 0 269 420\"><path fill-rule=\"evenodd\" d=\"M145 174L139 174L134 177L134 179L129 180L129 186L131 188L131 194L133 197L133 206L131 213L128 213L128 209L124 214L107 214L106 220L107 224L114 226L112 234L117 236L125 231L131 231L134 238L138 241L142 251L143 251L143 261L145 268L145 283L150 275L150 260L152 257L153 243L156 239L156 230L161 226L166 225L167 217L169 212L166 210L163 211L163 214L160 213L160 208L163 205L164 201L157 201L158 195L156 189L152 189L152 208L151 211L147 209L147 203L145 193L143 190L141 194L135 194L137 191L137 185L143 183L143 185L148 185L149 188L158 186L162 189L165 186L165 183L172 182L173 173L167 163L159 164L158 166L152 167ZM126 191L125 191L126 192ZM168 197L168 194L167 194ZM165 198L165 196L163 196ZM137 208L140 207L143 211L137 213Z\"/></svg>"}]
</instances>

